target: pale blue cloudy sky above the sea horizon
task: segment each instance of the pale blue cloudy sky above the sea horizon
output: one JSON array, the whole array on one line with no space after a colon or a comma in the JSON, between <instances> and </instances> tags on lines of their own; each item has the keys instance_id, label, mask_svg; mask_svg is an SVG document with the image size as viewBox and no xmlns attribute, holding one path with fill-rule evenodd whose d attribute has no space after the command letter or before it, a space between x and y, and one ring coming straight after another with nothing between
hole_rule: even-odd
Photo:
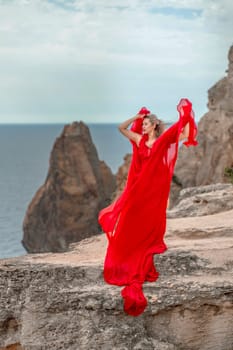
<instances>
[{"instance_id":1,"label":"pale blue cloudy sky above the sea horizon","mask_svg":"<svg viewBox=\"0 0 233 350\"><path fill-rule=\"evenodd\" d=\"M0 123L197 120L226 73L232 0L0 0Z\"/></svg>"}]
</instances>

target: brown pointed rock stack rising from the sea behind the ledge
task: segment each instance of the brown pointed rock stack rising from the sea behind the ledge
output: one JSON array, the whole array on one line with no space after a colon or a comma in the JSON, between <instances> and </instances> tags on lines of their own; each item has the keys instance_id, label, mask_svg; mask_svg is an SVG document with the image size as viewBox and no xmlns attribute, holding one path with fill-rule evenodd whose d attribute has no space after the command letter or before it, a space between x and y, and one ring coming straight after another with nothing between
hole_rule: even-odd
<instances>
[{"instance_id":1,"label":"brown pointed rock stack rising from the sea behind the ledge","mask_svg":"<svg viewBox=\"0 0 233 350\"><path fill-rule=\"evenodd\" d=\"M99 232L97 216L115 190L115 177L99 161L88 127L66 125L50 156L44 185L23 223L28 252L56 252Z\"/></svg>"}]
</instances>

